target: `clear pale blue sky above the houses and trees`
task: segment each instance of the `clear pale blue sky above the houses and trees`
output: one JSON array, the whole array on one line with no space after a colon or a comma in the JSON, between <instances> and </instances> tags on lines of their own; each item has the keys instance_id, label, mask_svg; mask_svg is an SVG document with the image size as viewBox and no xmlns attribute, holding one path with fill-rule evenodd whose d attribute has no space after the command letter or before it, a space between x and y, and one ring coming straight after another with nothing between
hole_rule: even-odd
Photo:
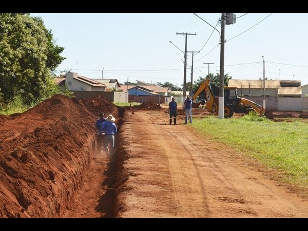
<instances>
[{"instance_id":1,"label":"clear pale blue sky above the houses and trees","mask_svg":"<svg viewBox=\"0 0 308 231\"><path fill-rule=\"evenodd\" d=\"M221 13L197 13L221 32ZM235 13L225 26L225 74L232 79L300 80L308 84L308 13ZM31 13L43 18L56 45L64 47L57 71L91 79L183 84L185 36L194 53L193 81L219 73L220 34L193 13ZM250 29L249 29L250 28ZM214 31L214 32L213 32ZM213 34L212 34L213 33ZM171 41L174 45L172 45ZM178 48L177 48L178 47ZM187 53L186 80L192 53ZM204 64L214 63L214 64Z\"/></svg>"}]
</instances>

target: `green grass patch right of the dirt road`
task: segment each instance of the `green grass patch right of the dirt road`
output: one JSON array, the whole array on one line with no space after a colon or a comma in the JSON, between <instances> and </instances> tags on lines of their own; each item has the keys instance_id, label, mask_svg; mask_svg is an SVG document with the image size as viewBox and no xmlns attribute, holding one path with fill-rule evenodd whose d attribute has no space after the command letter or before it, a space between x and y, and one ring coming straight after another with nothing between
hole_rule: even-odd
<instances>
[{"instance_id":1,"label":"green grass patch right of the dirt road","mask_svg":"<svg viewBox=\"0 0 308 231\"><path fill-rule=\"evenodd\" d=\"M284 172L285 182L308 186L308 124L242 118L194 119L192 126L207 138L222 142L272 169Z\"/></svg>"}]
</instances>

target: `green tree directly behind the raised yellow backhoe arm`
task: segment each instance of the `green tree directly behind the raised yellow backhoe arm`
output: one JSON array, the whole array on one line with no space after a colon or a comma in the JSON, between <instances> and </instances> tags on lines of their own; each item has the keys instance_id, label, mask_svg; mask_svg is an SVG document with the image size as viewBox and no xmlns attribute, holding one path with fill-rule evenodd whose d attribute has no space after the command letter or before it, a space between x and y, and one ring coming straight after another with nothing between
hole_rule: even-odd
<instances>
[{"instance_id":1,"label":"green tree directly behind the raised yellow backhoe arm","mask_svg":"<svg viewBox=\"0 0 308 231\"><path fill-rule=\"evenodd\" d=\"M210 86L213 90L214 95L219 95L219 82L220 82L220 74L217 73L214 75L213 73L209 73L209 75L206 76L207 79L210 80ZM196 92L201 85L205 81L204 77L199 76L199 80L194 82L194 86L192 87L192 92ZM232 76L229 76L228 74L224 75L224 86L228 86L229 80L232 79ZM198 96L198 98L205 99L205 92L201 92Z\"/></svg>"}]
</instances>

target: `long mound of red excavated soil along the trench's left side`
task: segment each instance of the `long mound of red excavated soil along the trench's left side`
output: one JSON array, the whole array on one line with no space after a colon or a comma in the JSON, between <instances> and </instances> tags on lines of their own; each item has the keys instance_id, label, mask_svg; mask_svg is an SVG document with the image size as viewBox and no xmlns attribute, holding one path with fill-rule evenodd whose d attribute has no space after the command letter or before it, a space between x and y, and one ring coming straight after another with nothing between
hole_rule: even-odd
<instances>
[{"instance_id":1,"label":"long mound of red excavated soil along the trench's left side","mask_svg":"<svg viewBox=\"0 0 308 231\"><path fill-rule=\"evenodd\" d=\"M0 116L0 218L63 215L83 185L101 112L119 118L105 98L64 95Z\"/></svg>"}]
</instances>

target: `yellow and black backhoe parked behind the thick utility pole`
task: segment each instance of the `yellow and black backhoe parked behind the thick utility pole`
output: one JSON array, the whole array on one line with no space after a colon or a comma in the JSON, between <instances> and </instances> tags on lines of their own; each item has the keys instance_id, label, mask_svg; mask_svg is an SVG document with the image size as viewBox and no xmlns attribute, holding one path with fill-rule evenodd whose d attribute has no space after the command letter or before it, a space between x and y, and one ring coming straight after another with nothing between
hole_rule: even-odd
<instances>
[{"instance_id":1,"label":"yellow and black backhoe parked behind the thick utility pole","mask_svg":"<svg viewBox=\"0 0 308 231\"><path fill-rule=\"evenodd\" d=\"M191 99L197 99L198 95L205 90L205 100L207 110L211 113L218 114L218 97L214 97L213 91L210 86L210 81L206 79L192 95ZM200 105L200 103L197 103ZM196 104L196 105L197 105ZM198 106L199 106L198 105ZM245 113L248 114L250 111L262 116L265 115L268 119L274 119L271 109L265 110L261 105L238 97L236 87L224 87L224 117L231 118L233 113Z\"/></svg>"}]
</instances>

